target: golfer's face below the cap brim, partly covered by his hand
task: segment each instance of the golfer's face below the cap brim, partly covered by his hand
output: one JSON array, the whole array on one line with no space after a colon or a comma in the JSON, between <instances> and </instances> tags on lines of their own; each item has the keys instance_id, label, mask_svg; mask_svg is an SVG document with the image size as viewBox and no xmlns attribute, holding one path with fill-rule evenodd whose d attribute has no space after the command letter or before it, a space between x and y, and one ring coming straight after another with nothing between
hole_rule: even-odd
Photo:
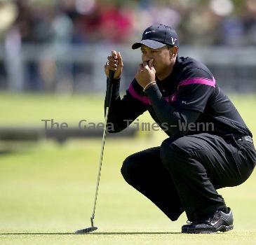
<instances>
[{"instance_id":1,"label":"golfer's face below the cap brim, partly covered by his hand","mask_svg":"<svg viewBox=\"0 0 256 245\"><path fill-rule=\"evenodd\" d=\"M149 62L150 59L154 59L153 66L156 69L156 76L163 73L170 67L171 62L171 50L164 46L163 48L152 49L146 45L142 45L142 62Z\"/></svg>"}]
</instances>

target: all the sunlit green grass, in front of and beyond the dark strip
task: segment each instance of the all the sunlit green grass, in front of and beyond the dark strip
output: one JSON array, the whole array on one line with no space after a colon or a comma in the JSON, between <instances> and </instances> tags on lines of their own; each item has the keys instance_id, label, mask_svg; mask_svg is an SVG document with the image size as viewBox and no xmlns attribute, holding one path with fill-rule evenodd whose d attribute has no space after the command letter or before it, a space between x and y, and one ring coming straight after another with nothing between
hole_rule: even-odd
<instances>
[{"instance_id":1,"label":"all the sunlit green grass, in front of and beyond the dark strip","mask_svg":"<svg viewBox=\"0 0 256 245\"><path fill-rule=\"evenodd\" d=\"M255 96L231 98L256 134ZM41 113L53 118L57 113L59 120L73 123L84 115L100 121L101 99L100 95L55 98L1 94L0 124L13 120L18 122L13 126L33 125ZM62 108L63 102L69 103ZM10 113L17 105L22 113L18 109ZM180 234L187 220L184 215L171 222L123 181L120 168L124 158L158 146L164 137L159 132L151 138L107 139L95 215L98 230L88 235L71 233L90 226L101 139L67 141L62 146L40 141L1 154L0 244L255 244L255 173L243 185L219 191L234 211L235 229L215 235Z\"/></svg>"}]
</instances>

